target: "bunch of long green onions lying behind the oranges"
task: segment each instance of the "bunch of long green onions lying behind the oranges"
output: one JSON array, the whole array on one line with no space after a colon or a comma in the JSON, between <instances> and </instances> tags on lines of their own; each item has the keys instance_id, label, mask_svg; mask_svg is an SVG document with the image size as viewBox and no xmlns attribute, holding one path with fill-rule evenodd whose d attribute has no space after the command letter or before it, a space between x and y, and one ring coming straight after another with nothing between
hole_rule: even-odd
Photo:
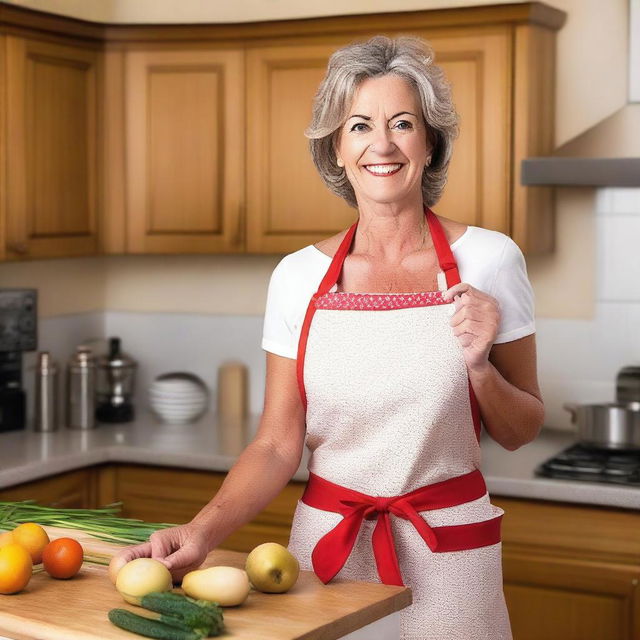
<instances>
[{"instance_id":1,"label":"bunch of long green onions lying behind the oranges","mask_svg":"<svg viewBox=\"0 0 640 640\"><path fill-rule=\"evenodd\" d=\"M99 509L59 509L43 507L35 500L0 501L0 530L10 530L24 522L78 529L99 540L120 544L146 542L158 529L175 527L167 522L144 522L121 518L122 502L113 502Z\"/></svg>"}]
</instances>

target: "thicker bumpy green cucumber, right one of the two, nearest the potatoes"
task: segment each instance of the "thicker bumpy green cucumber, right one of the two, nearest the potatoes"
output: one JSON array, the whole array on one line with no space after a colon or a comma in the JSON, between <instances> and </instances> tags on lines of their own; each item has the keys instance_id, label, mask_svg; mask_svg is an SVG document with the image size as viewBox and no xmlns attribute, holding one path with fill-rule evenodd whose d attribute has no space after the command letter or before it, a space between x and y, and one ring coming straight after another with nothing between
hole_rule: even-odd
<instances>
[{"instance_id":1,"label":"thicker bumpy green cucumber, right one of the two, nearest the potatoes","mask_svg":"<svg viewBox=\"0 0 640 640\"><path fill-rule=\"evenodd\" d=\"M195 600L170 591L143 596L140 604L163 616L178 618L191 629L206 636L217 636L224 628L222 609L215 602ZM167 621L169 622L169 621Z\"/></svg>"}]
</instances>

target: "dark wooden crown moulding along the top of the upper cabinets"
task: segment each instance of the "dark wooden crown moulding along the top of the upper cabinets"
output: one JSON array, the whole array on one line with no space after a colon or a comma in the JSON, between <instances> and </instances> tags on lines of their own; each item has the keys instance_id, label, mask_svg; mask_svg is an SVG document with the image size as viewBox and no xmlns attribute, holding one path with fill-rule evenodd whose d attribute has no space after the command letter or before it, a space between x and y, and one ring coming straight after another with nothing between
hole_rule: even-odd
<instances>
[{"instance_id":1,"label":"dark wooden crown moulding along the top of the upper cabinets","mask_svg":"<svg viewBox=\"0 0 640 640\"><path fill-rule=\"evenodd\" d=\"M89 22L43 11L0 5L0 30L30 29L98 42L167 42L237 40L385 32L403 29L434 29L481 24L535 24L552 30L562 27L566 14L541 2L498 4L482 7L402 11L389 13L303 18L233 24L106 24Z\"/></svg>"}]
</instances>

